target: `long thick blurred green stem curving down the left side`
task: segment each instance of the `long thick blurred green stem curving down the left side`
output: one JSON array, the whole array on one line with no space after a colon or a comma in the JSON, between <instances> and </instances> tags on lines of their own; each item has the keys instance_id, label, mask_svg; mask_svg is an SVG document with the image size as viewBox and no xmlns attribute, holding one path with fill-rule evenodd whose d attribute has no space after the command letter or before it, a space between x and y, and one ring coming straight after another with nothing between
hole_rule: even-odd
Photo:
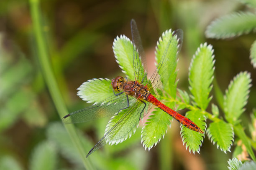
<instances>
[{"instance_id":1,"label":"long thick blurred green stem curving down the left side","mask_svg":"<svg viewBox=\"0 0 256 170\"><path fill-rule=\"evenodd\" d=\"M56 79L54 77L54 73L51 68L49 56L47 53L48 50L43 35L43 25L41 24L39 0L30 0L29 2L31 7L31 17L33 22L34 34L36 38L36 45L38 48L38 60L40 62L41 70L44 75L46 84L49 88L52 100L54 101L56 110L58 111L59 116L63 117L64 115L67 115L69 112L67 111L66 105L64 104L63 98L61 97L61 93L59 91ZM84 153L81 141L79 140L74 125L65 125L65 128L69 133L72 142L76 146L82 158L84 167L87 170L93 169L89 159L85 159L86 154Z\"/></svg>"}]
</instances>

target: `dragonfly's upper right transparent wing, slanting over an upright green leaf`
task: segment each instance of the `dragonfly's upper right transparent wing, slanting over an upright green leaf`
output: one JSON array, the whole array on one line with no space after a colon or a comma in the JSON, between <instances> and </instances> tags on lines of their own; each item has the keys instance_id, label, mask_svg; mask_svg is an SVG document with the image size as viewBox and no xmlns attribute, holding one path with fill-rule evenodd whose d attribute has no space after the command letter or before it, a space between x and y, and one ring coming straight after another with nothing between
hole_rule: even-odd
<instances>
[{"instance_id":1,"label":"dragonfly's upper right transparent wing, slanting over an upright green leaf","mask_svg":"<svg viewBox=\"0 0 256 170\"><path fill-rule=\"evenodd\" d=\"M172 64L171 62L168 62L169 55L172 52L176 53L176 56L178 55L181 47L182 47L182 40L183 40L183 31L182 30L175 30L172 33L172 36L170 37L168 44L164 50L164 53L161 57L161 60L158 62L159 64L156 67L156 70L154 71L151 78L148 80L148 90L154 95L158 100L162 96L162 86L163 84L166 85L168 83L168 79L170 77L170 73L172 72ZM178 43L177 45L173 45L172 43ZM171 48L170 47L173 47ZM178 49L174 49L174 47L177 47Z\"/></svg>"}]
</instances>

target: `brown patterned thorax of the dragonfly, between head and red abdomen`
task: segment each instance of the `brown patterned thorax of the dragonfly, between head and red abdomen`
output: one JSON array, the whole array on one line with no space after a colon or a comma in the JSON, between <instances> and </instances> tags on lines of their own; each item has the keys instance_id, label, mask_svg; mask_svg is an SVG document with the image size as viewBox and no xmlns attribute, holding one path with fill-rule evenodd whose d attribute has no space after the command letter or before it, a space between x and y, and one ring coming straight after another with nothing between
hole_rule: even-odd
<instances>
[{"instance_id":1,"label":"brown patterned thorax of the dragonfly, between head and red abdomen","mask_svg":"<svg viewBox=\"0 0 256 170\"><path fill-rule=\"evenodd\" d=\"M143 98L144 100L146 100L148 95L150 95L148 88L136 81L126 82L123 85L123 90L128 95L132 95L136 98Z\"/></svg>"}]
</instances>

